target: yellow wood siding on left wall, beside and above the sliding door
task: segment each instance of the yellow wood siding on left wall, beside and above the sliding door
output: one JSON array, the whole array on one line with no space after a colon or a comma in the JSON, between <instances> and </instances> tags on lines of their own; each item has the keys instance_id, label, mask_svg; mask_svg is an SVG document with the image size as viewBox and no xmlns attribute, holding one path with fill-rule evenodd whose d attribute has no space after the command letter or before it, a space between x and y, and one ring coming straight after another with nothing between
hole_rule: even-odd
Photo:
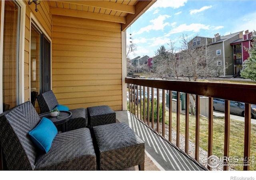
<instances>
[{"instance_id":1,"label":"yellow wood siding on left wall, beside and above the sliding door","mask_svg":"<svg viewBox=\"0 0 256 180\"><path fill-rule=\"evenodd\" d=\"M25 2L25 1L24 1ZM30 13L35 16L36 20L40 23L40 26L44 28L44 31L48 36L52 36L52 16L50 14L50 8L48 2L41 1L37 6L38 12L35 12L35 5L32 3L28 5L26 1L26 18L25 18L25 48L24 48L24 101L30 100L30 77L29 77L29 67L30 59ZM37 24L38 25L38 24ZM39 112L38 104L35 106L36 110Z\"/></svg>"}]
</instances>

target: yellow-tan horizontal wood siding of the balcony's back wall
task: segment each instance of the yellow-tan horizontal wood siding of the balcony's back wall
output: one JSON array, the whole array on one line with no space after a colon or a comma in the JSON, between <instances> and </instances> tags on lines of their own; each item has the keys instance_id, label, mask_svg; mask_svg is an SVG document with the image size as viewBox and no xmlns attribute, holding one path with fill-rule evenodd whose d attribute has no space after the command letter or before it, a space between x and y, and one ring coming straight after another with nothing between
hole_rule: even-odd
<instances>
[{"instance_id":1,"label":"yellow-tan horizontal wood siding of the balcony's back wall","mask_svg":"<svg viewBox=\"0 0 256 180\"><path fill-rule=\"evenodd\" d=\"M52 16L52 90L69 108L122 110L121 25Z\"/></svg>"}]
</instances>

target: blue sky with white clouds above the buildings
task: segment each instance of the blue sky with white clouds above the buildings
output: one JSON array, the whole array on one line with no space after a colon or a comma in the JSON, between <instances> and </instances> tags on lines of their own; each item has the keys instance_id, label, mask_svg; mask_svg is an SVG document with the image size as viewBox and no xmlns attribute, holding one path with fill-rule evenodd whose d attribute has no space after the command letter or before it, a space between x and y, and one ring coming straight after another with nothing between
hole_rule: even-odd
<instances>
[{"instance_id":1,"label":"blue sky with white clouds above the buildings","mask_svg":"<svg viewBox=\"0 0 256 180\"><path fill-rule=\"evenodd\" d=\"M182 35L213 38L246 30L256 30L256 0L157 0L126 30L126 44L136 45L128 57L155 56L171 41L179 48Z\"/></svg>"}]
</instances>

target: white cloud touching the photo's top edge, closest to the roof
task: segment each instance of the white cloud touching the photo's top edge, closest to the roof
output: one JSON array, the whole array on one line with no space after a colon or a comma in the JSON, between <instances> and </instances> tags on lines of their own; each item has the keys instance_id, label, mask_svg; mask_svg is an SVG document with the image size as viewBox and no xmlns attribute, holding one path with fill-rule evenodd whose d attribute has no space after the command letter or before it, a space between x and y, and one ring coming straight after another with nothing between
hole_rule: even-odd
<instances>
[{"instance_id":1,"label":"white cloud touching the photo's top edge, closest to the roof","mask_svg":"<svg viewBox=\"0 0 256 180\"><path fill-rule=\"evenodd\" d=\"M187 1L188 0L157 0L151 6L151 8L155 9L155 8L168 8L168 7L171 7L171 8L176 9L176 8L181 7L181 6L184 6Z\"/></svg>"}]
</instances>

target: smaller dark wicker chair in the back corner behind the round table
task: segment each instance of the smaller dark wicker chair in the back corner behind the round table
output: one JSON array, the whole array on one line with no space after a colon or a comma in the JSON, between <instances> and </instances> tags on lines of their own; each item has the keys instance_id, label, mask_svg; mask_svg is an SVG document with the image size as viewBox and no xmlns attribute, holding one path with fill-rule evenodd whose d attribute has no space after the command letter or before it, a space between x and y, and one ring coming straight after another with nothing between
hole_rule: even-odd
<instances>
[{"instance_id":1,"label":"smaller dark wicker chair in the back corner behind the round table","mask_svg":"<svg viewBox=\"0 0 256 180\"><path fill-rule=\"evenodd\" d=\"M58 105L58 100L56 99L56 96L54 95L53 91L47 91L42 94L39 94L37 97L37 101L40 108L40 113L50 112L50 110L54 109ZM77 108L69 110L72 112L72 117L68 121L68 129L75 130L78 128L85 128L86 127L86 109L85 108ZM61 129L60 126L57 126L58 130Z\"/></svg>"}]
</instances>

